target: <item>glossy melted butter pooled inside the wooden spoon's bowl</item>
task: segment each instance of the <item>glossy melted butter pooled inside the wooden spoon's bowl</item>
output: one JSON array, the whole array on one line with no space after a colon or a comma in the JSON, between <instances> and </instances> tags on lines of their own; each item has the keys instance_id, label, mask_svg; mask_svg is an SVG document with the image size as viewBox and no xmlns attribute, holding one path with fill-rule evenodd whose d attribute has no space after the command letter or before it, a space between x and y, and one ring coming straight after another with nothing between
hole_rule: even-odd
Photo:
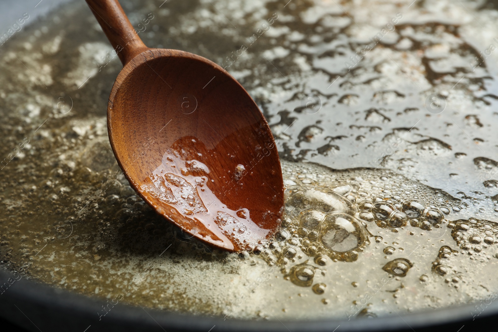
<instances>
[{"instance_id":1,"label":"glossy melted butter pooled inside the wooden spoon's bowl","mask_svg":"<svg viewBox=\"0 0 498 332\"><path fill-rule=\"evenodd\" d=\"M192 236L209 238L210 242L229 250L240 250L248 243L264 239L267 230L251 220L248 209L229 209L222 201L223 196L218 197L210 189L215 180L211 179L208 166L195 159L185 160L184 156L184 151L168 149L161 165L140 187L163 204L155 206L156 211L182 223ZM183 218L177 220L175 212Z\"/></svg>"}]
</instances>

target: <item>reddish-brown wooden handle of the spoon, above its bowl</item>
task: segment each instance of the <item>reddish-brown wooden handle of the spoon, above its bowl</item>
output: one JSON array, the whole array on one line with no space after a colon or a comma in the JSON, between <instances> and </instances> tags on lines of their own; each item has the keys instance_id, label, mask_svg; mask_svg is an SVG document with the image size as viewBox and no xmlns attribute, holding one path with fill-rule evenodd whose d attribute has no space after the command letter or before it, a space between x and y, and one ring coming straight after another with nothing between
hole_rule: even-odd
<instances>
[{"instance_id":1,"label":"reddish-brown wooden handle of the spoon, above its bowl","mask_svg":"<svg viewBox=\"0 0 498 332\"><path fill-rule=\"evenodd\" d=\"M123 63L147 49L118 0L85 0Z\"/></svg>"}]
</instances>

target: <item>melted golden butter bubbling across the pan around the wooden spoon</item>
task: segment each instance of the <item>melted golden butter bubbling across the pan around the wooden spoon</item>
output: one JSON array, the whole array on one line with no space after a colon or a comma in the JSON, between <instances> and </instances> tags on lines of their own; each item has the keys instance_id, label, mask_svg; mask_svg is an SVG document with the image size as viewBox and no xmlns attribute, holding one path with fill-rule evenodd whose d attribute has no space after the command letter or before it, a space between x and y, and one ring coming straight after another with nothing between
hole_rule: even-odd
<instances>
[{"instance_id":1,"label":"melted golden butter bubbling across the pan around the wooden spoon","mask_svg":"<svg viewBox=\"0 0 498 332\"><path fill-rule=\"evenodd\" d=\"M237 23L239 39L221 14L206 15L214 10L208 2L186 11L182 1L161 8L142 1L129 10L137 19L153 11L152 27L140 32L147 45L167 42L225 59L233 52L226 45L246 42L276 10L273 2L257 8L252 2L237 9L245 11L244 22ZM437 23L444 1L408 8L410 2L401 25L354 70L344 71L342 64L368 37L363 28L372 30L371 18L394 17L397 2L345 1L353 23L324 1L292 1L244 52L247 58L227 67L260 102L279 140L286 186L279 231L238 253L208 247L164 221L124 179L105 118L121 64L111 59L98 25L81 29L95 22L88 8L84 14L85 3L49 15L53 22L26 27L0 49L0 151L8 158L0 172L2 265L24 267L28 278L103 304L120 299L236 319L402 315L497 293L497 180L489 177L498 164L491 159L494 132L488 126L496 123L489 111L496 102L482 94L496 75L488 71L492 62L475 64L480 49L462 37L489 45L491 37L471 15L493 25L495 11L455 9L453 23ZM128 12L133 3L124 3ZM216 5L228 17L235 14L229 1ZM466 65L454 65L468 61L477 66L470 81ZM422 102L438 91L447 110L426 112ZM73 111L67 111L69 97ZM307 108L308 97L321 99L322 109ZM60 98L67 109L60 108ZM466 133L476 137L472 144ZM136 160L156 148L154 137L143 139ZM375 169L352 168L372 164ZM243 171L241 165L234 173ZM179 209L186 215L203 209L189 197L192 188L168 180L180 185ZM202 184L202 177L197 180ZM479 180L475 186L467 184L473 180ZM164 199L173 202L172 194ZM96 311L105 319L100 306Z\"/></svg>"}]
</instances>

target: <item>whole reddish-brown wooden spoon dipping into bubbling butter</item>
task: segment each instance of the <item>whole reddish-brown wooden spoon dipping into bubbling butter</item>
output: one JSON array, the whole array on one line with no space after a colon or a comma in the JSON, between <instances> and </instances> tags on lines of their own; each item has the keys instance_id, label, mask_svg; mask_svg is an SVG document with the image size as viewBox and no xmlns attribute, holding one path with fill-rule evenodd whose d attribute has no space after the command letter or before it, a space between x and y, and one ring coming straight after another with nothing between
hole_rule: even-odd
<instances>
[{"instance_id":1,"label":"whole reddish-brown wooden spoon dipping into bubbling butter","mask_svg":"<svg viewBox=\"0 0 498 332\"><path fill-rule=\"evenodd\" d=\"M216 63L146 47L117 0L86 0L124 67L107 109L131 187L184 232L231 251L271 236L283 210L275 141L252 98Z\"/></svg>"}]
</instances>

